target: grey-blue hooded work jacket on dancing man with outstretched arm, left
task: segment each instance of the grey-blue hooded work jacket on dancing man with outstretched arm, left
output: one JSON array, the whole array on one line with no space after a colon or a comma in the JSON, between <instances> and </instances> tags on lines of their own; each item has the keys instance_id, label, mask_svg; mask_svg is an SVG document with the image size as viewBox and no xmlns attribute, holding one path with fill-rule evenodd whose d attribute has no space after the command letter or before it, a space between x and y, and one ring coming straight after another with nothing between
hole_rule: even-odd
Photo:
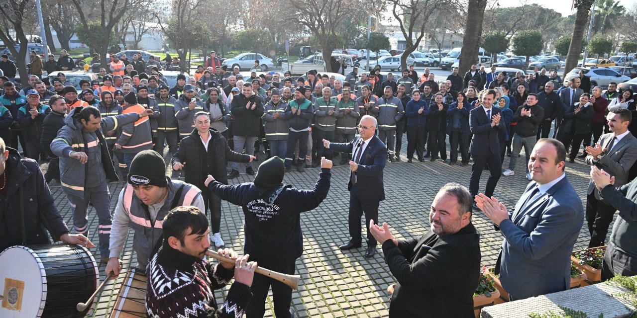
<instances>
[{"instance_id":1,"label":"grey-blue hooded work jacket on dancing man with outstretched arm, left","mask_svg":"<svg viewBox=\"0 0 637 318\"><path fill-rule=\"evenodd\" d=\"M57 137L51 143L51 151L53 151L54 155L60 157L62 191L83 198L87 172L94 173L96 169L103 169L106 179L119 180L106 146L103 131L115 130L121 125L132 125L134 121L139 119L139 116L136 113L129 113L102 118L100 128L96 132L89 133L83 130L79 119L73 118L81 110L78 107L66 116L66 119L64 119L66 125L60 129ZM82 164L80 160L70 156L73 151L87 153L88 149L92 147L97 147L97 151L93 157L89 156L88 163ZM101 162L101 166L97 166L95 162Z\"/></svg>"}]
</instances>

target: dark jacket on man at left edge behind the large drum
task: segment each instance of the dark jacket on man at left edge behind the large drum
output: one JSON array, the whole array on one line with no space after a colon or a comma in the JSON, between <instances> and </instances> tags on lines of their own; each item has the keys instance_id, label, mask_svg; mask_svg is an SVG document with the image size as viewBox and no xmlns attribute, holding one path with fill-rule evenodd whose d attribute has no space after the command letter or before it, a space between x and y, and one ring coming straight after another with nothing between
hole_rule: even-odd
<instances>
[{"instance_id":1,"label":"dark jacket on man at left edge behind the large drum","mask_svg":"<svg viewBox=\"0 0 637 318\"><path fill-rule=\"evenodd\" d=\"M53 239L59 240L69 230L55 208L55 201L38 163L32 159L21 159L16 149L6 150L9 151L6 165L10 170L10 179L6 181L6 196L0 194L0 219L3 220L0 223L0 250L23 244L20 210L24 213L27 245L50 243L45 225L48 225Z\"/></svg>"}]
</instances>

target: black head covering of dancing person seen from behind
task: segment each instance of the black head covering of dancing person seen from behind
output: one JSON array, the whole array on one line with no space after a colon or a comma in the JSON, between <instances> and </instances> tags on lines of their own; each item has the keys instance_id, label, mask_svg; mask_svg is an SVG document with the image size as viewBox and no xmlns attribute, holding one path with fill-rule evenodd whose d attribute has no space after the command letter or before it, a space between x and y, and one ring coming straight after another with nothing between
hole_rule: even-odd
<instances>
[{"instance_id":1,"label":"black head covering of dancing person seen from behind","mask_svg":"<svg viewBox=\"0 0 637 318\"><path fill-rule=\"evenodd\" d=\"M272 204L280 193L279 189L283 188L284 174L285 165L278 156L273 156L261 163L254 177L254 186L259 191L259 197Z\"/></svg>"}]
</instances>

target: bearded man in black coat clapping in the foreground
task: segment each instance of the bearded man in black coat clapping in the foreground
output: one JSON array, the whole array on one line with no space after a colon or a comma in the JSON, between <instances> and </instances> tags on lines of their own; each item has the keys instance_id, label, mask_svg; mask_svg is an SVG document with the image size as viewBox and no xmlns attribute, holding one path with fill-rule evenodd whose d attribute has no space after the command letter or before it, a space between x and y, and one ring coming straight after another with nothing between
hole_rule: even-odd
<instances>
[{"instance_id":1,"label":"bearded man in black coat clapping in the foreground","mask_svg":"<svg viewBox=\"0 0 637 318\"><path fill-rule=\"evenodd\" d=\"M473 293L480 275L479 235L471 224L471 196L448 183L431 204L431 231L396 240L387 223L371 224L397 284L389 317L473 317Z\"/></svg>"}]
</instances>

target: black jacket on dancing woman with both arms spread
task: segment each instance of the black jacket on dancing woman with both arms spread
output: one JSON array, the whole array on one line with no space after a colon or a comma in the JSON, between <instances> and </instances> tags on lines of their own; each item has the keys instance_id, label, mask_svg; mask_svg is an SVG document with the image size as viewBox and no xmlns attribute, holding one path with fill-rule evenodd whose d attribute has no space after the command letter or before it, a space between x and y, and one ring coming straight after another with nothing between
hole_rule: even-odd
<instances>
[{"instance_id":1,"label":"black jacket on dancing woman with both arms spread","mask_svg":"<svg viewBox=\"0 0 637 318\"><path fill-rule=\"evenodd\" d=\"M208 142L208 151L201 142L199 131L194 129L190 135L182 139L172 160L173 164L177 162L183 164L185 181L199 189L206 188L204 181L208 174L220 183L227 184L226 162L250 162L250 155L232 151L220 132L213 129L209 131L211 138Z\"/></svg>"}]
</instances>

